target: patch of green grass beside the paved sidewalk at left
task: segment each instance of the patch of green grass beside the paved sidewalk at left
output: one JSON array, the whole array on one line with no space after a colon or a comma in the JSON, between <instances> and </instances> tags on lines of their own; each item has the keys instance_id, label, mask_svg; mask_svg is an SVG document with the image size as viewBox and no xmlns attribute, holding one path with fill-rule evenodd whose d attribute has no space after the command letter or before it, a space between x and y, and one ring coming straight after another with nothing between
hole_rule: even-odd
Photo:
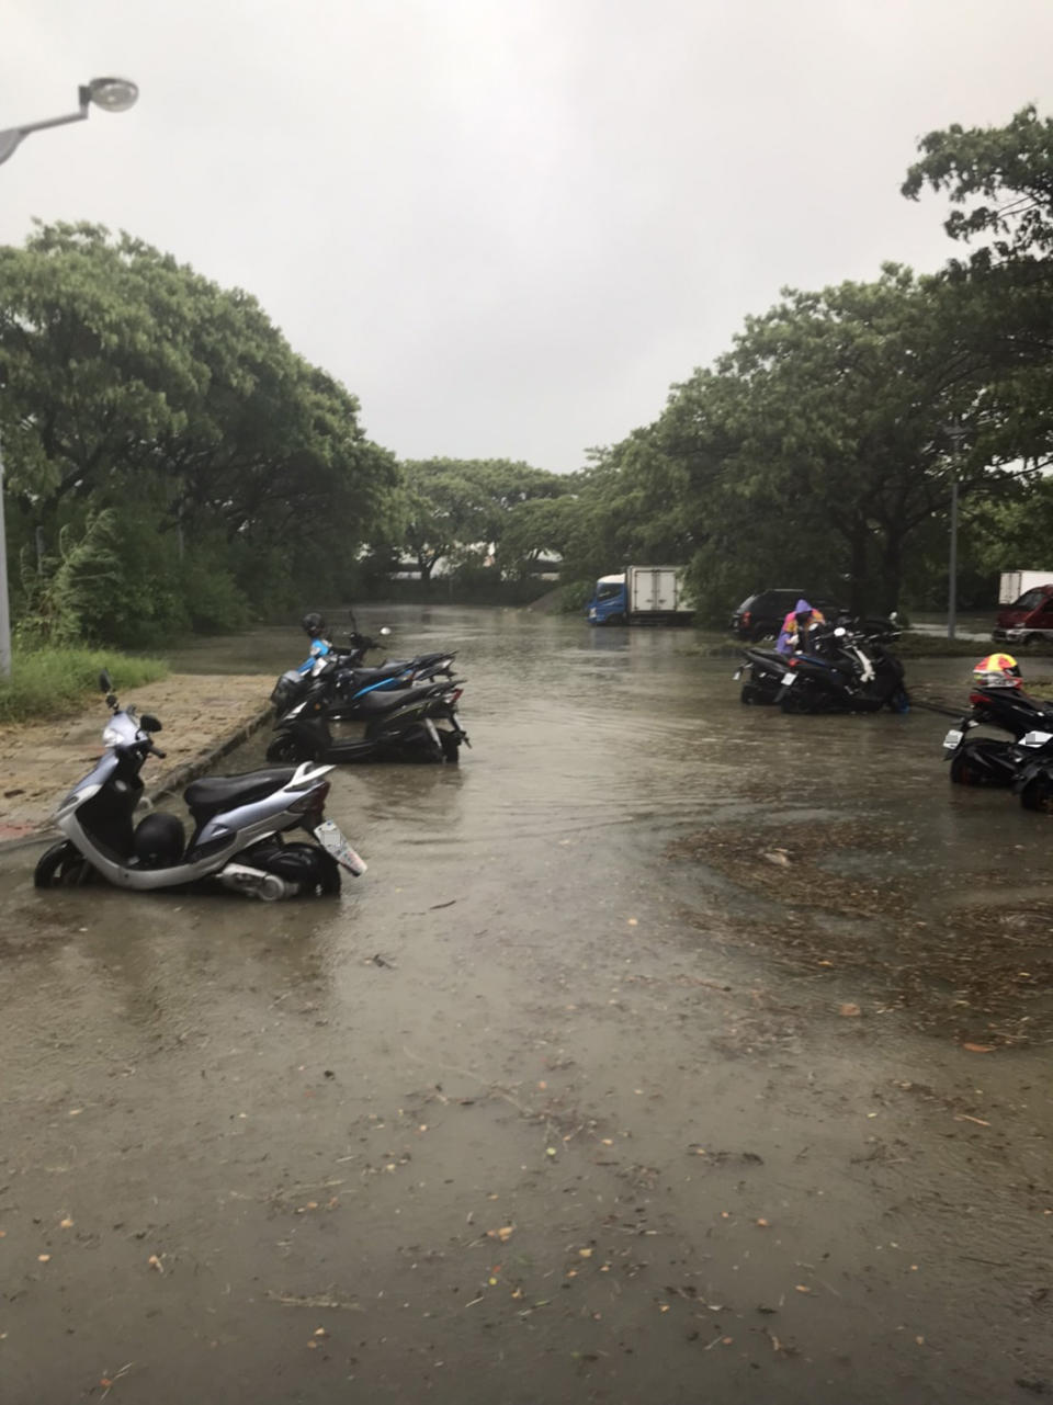
<instances>
[{"instance_id":1,"label":"patch of green grass beside the paved sidewalk at left","mask_svg":"<svg viewBox=\"0 0 1053 1405\"><path fill-rule=\"evenodd\" d=\"M110 670L118 694L169 674L163 659L132 659L115 649L15 649L11 679L0 683L0 722L79 712L91 697L98 697L101 669Z\"/></svg>"}]
</instances>

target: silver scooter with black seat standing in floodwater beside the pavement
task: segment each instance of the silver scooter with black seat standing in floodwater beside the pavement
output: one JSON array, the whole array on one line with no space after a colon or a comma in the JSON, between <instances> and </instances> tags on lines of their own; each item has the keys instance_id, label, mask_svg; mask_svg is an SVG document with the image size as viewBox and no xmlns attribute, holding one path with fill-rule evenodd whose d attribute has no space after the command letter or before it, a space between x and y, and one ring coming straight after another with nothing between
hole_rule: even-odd
<instances>
[{"instance_id":1,"label":"silver scooter with black seat standing in floodwater beside the pavement","mask_svg":"<svg viewBox=\"0 0 1053 1405\"><path fill-rule=\"evenodd\" d=\"M65 835L39 858L38 888L72 887L104 878L117 888L229 888L274 901L340 891L340 868L356 877L366 864L339 828L325 818L330 766L304 764L211 776L183 792L194 819L190 843L177 815L153 812L134 822L142 798L139 776L148 756L163 757L152 735L156 717L135 715L98 677L111 711L105 750L96 767L62 801L55 823ZM287 843L304 829L316 843Z\"/></svg>"}]
</instances>

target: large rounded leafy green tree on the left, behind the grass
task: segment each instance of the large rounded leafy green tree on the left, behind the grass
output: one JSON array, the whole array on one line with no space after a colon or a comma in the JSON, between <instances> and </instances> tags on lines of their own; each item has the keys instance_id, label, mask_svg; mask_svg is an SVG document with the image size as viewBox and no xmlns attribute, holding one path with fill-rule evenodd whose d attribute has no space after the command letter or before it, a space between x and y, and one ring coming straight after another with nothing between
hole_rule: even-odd
<instances>
[{"instance_id":1,"label":"large rounded leafy green tree on the left, behind the grass","mask_svg":"<svg viewBox=\"0 0 1053 1405\"><path fill-rule=\"evenodd\" d=\"M0 377L15 542L39 528L53 563L112 510L157 628L336 584L394 510L354 396L252 296L128 235L52 225L0 249Z\"/></svg>"}]
</instances>

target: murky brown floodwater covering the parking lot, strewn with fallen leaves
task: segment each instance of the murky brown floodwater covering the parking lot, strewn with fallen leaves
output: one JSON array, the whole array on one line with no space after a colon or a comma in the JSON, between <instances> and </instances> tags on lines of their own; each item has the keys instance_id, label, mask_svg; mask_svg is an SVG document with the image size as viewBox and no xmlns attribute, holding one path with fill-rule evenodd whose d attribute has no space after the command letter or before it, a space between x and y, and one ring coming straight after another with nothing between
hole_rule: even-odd
<instances>
[{"instance_id":1,"label":"murky brown floodwater covering the parking lot, strewn with fallen leaves","mask_svg":"<svg viewBox=\"0 0 1053 1405\"><path fill-rule=\"evenodd\" d=\"M6 1405L1053 1392L1053 822L686 631L382 622L474 746L335 773L337 901L0 863Z\"/></svg>"}]
</instances>

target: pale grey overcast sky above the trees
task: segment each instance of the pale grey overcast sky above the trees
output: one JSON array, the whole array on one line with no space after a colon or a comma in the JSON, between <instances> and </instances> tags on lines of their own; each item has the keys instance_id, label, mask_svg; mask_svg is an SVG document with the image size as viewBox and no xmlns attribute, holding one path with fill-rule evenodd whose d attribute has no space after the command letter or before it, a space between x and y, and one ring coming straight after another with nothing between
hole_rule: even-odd
<instances>
[{"instance_id":1,"label":"pale grey overcast sky above the trees","mask_svg":"<svg viewBox=\"0 0 1053 1405\"><path fill-rule=\"evenodd\" d=\"M402 458L579 468L779 288L938 267L919 136L1053 112L1050 0L4 0L0 240L253 292Z\"/></svg>"}]
</instances>

